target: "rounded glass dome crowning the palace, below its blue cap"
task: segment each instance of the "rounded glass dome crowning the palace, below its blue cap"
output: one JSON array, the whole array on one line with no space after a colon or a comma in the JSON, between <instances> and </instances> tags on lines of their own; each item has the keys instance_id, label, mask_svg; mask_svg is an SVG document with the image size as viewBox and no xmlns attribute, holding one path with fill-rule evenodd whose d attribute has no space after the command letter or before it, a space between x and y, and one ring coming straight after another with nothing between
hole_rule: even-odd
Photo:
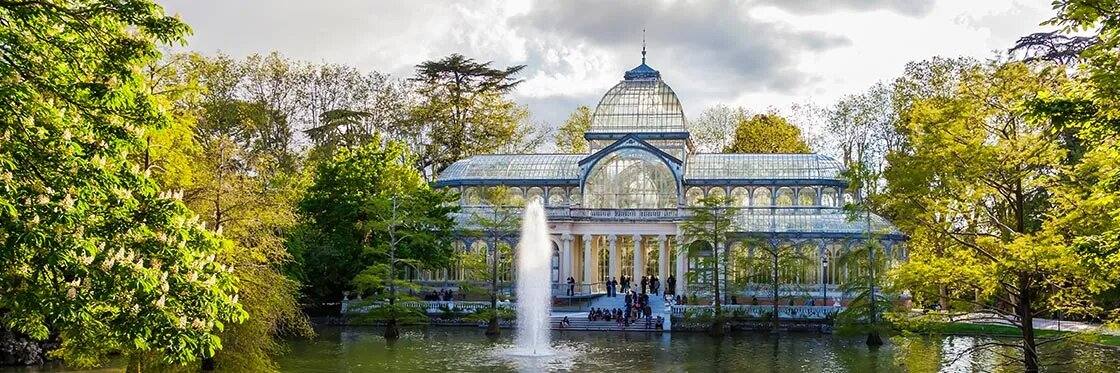
<instances>
[{"instance_id":1,"label":"rounded glass dome crowning the palace, below its blue cap","mask_svg":"<svg viewBox=\"0 0 1120 373\"><path fill-rule=\"evenodd\" d=\"M656 77L618 82L595 108L588 130L616 133L685 131L681 101L673 88Z\"/></svg>"}]
</instances>

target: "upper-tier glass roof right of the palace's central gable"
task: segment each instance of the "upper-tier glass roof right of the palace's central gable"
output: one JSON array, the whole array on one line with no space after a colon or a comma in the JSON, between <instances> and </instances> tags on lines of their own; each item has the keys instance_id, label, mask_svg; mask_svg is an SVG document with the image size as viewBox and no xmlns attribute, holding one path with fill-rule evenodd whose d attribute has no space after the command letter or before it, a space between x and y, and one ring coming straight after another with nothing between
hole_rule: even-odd
<instances>
[{"instance_id":1,"label":"upper-tier glass roof right of the palace's central gable","mask_svg":"<svg viewBox=\"0 0 1120 373\"><path fill-rule=\"evenodd\" d=\"M821 155L691 155L684 179L838 179L840 162Z\"/></svg>"}]
</instances>

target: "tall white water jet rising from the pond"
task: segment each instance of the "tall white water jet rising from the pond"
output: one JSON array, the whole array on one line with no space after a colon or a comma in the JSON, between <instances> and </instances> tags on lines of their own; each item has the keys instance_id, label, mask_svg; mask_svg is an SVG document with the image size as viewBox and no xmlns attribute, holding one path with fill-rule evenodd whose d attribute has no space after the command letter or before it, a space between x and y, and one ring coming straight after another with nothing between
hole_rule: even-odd
<instances>
[{"instance_id":1,"label":"tall white water jet rising from the pond","mask_svg":"<svg viewBox=\"0 0 1120 373\"><path fill-rule=\"evenodd\" d=\"M549 315L552 311L552 241L540 198L525 206L517 244L517 336L519 355L552 355Z\"/></svg>"}]
</instances>

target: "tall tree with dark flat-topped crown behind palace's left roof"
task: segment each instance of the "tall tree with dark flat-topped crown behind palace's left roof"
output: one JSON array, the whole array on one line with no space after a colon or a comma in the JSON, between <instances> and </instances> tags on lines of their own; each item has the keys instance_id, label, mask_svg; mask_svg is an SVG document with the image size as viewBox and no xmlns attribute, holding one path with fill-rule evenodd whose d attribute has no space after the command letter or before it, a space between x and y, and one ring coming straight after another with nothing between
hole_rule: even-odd
<instances>
[{"instance_id":1,"label":"tall tree with dark flat-topped crown behind palace's left roof","mask_svg":"<svg viewBox=\"0 0 1120 373\"><path fill-rule=\"evenodd\" d=\"M493 151L517 133L516 105L503 94L521 84L517 75L525 66L493 68L491 63L452 54L417 65L421 102L412 120L426 128L429 140L419 168L439 175L456 160Z\"/></svg>"}]
</instances>

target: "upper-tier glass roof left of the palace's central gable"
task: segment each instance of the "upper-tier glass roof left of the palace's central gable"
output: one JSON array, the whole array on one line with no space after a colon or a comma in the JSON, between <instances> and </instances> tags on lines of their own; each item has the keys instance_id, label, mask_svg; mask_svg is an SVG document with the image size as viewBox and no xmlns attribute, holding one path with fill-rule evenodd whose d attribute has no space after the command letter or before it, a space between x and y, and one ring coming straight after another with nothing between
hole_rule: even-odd
<instances>
[{"instance_id":1,"label":"upper-tier glass roof left of the palace's central gable","mask_svg":"<svg viewBox=\"0 0 1120 373\"><path fill-rule=\"evenodd\" d=\"M578 179L586 155L485 155L461 159L439 174L437 183L464 179Z\"/></svg>"}]
</instances>

